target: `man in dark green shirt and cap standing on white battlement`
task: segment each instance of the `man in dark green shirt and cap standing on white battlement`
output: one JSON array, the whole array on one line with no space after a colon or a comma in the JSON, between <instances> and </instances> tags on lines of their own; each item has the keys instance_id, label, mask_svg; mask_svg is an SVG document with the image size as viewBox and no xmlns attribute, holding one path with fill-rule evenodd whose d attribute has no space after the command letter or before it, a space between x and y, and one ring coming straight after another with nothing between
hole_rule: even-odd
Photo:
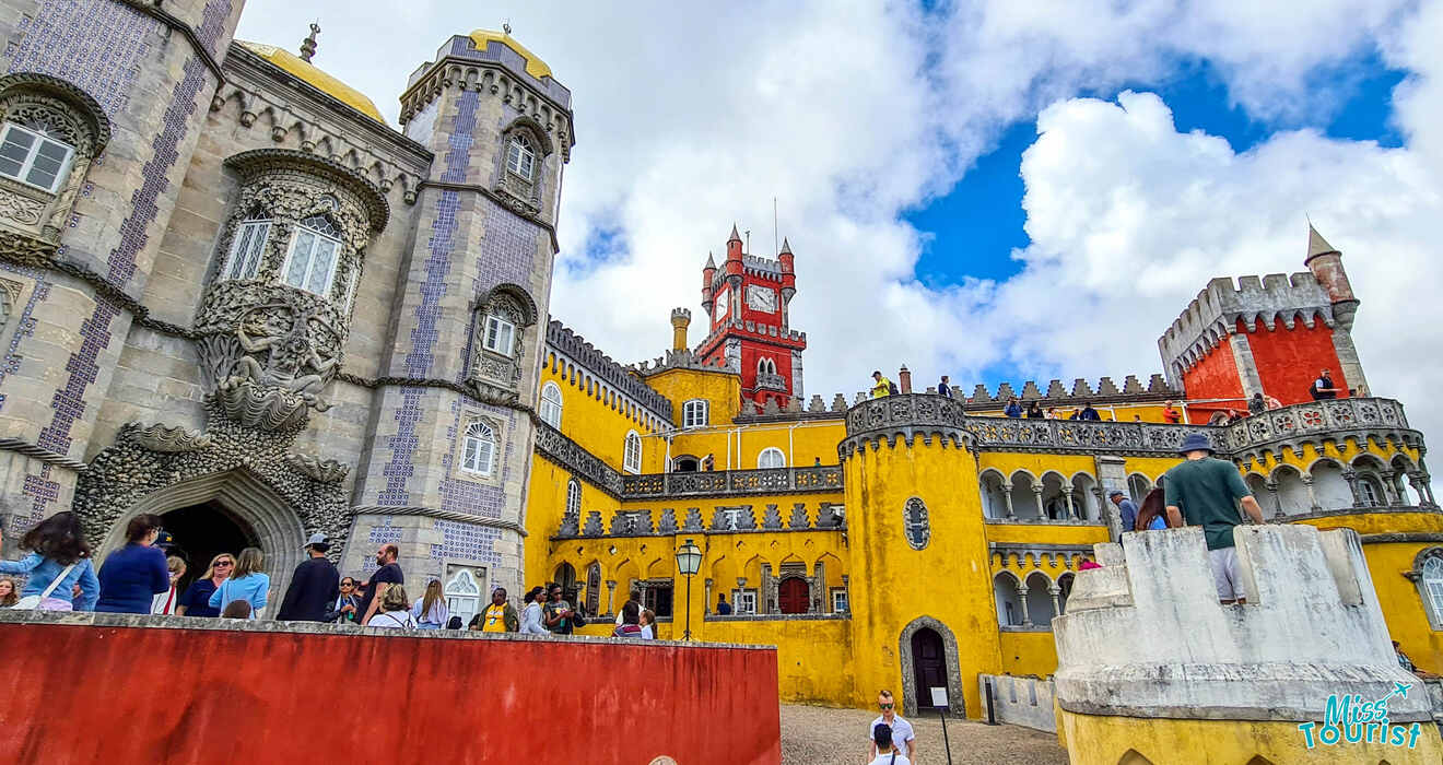
<instances>
[{"instance_id":1,"label":"man in dark green shirt and cap standing on white battlement","mask_svg":"<svg viewBox=\"0 0 1443 765\"><path fill-rule=\"evenodd\" d=\"M1218 586L1218 599L1224 605L1245 602L1242 582L1238 577L1238 551L1232 541L1232 528L1238 517L1237 499L1253 523L1263 523L1263 508L1253 498L1248 485L1242 482L1238 468L1228 460L1214 459L1208 436L1193 433L1183 439L1177 449L1186 460L1163 475L1163 492L1167 502L1167 525L1201 525L1208 540L1208 560L1212 563L1212 580Z\"/></svg>"}]
</instances>

